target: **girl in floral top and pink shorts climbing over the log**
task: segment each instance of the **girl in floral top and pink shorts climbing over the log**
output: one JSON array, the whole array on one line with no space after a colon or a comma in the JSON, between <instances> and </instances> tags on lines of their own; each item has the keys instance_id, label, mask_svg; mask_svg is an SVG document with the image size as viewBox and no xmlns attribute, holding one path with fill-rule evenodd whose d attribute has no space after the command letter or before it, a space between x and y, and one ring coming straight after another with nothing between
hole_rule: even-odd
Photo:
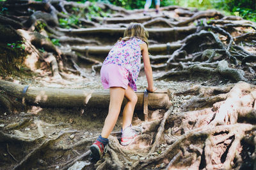
<instances>
[{"instance_id":1,"label":"girl in floral top and pink shorts climbing over the log","mask_svg":"<svg viewBox=\"0 0 256 170\"><path fill-rule=\"evenodd\" d=\"M142 131L132 127L132 116L138 97L136 80L140 72L141 54L147 76L149 92L154 92L152 68L148 57L148 32L142 24L131 23L110 50L100 69L100 78L104 89L110 89L108 116L101 135L90 146L92 157L99 160L108 144L108 136L115 127L124 97L127 99L123 111L121 145L129 145Z\"/></svg>"}]
</instances>

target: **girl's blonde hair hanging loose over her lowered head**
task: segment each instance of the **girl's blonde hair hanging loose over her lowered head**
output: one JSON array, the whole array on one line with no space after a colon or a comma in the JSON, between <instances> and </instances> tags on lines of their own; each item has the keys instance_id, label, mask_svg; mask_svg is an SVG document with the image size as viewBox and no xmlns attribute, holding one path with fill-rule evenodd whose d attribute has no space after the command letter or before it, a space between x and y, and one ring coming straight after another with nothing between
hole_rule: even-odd
<instances>
[{"instance_id":1,"label":"girl's blonde hair hanging loose over her lowered head","mask_svg":"<svg viewBox=\"0 0 256 170\"><path fill-rule=\"evenodd\" d=\"M127 41L132 37L140 38L148 46L148 31L145 30L142 24L132 22L128 25L127 29L124 31L124 38L122 38L122 40Z\"/></svg>"}]
</instances>

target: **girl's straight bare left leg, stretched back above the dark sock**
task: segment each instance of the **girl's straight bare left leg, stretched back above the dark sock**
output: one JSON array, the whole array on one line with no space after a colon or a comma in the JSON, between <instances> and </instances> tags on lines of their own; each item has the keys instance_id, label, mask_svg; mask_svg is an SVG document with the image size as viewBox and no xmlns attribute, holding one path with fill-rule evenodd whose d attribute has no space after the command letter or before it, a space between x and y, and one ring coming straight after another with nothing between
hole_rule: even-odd
<instances>
[{"instance_id":1,"label":"girl's straight bare left leg, stretched back above the dark sock","mask_svg":"<svg viewBox=\"0 0 256 170\"><path fill-rule=\"evenodd\" d=\"M109 110L101 132L102 138L108 138L109 134L113 131L124 100L124 94L125 89L122 87L110 87Z\"/></svg>"}]
</instances>

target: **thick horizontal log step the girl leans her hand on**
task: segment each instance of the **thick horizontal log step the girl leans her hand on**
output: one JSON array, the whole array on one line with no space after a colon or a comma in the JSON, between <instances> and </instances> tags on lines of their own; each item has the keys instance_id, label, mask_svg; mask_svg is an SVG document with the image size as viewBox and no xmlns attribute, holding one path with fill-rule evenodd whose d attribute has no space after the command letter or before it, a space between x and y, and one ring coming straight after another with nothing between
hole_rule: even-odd
<instances>
[{"instance_id":1,"label":"thick horizontal log step the girl leans her hand on","mask_svg":"<svg viewBox=\"0 0 256 170\"><path fill-rule=\"evenodd\" d=\"M41 107L72 108L72 107L97 107L108 108L108 90L84 90L84 89L57 89L49 87L28 87L10 81L0 80L0 89L18 99L24 97L26 103ZM22 94L23 92L23 94ZM136 92L138 102L135 110L143 110L143 92ZM126 100L123 102L123 106ZM160 91L148 94L148 108L166 109L170 106L170 99L167 91Z\"/></svg>"}]
</instances>

